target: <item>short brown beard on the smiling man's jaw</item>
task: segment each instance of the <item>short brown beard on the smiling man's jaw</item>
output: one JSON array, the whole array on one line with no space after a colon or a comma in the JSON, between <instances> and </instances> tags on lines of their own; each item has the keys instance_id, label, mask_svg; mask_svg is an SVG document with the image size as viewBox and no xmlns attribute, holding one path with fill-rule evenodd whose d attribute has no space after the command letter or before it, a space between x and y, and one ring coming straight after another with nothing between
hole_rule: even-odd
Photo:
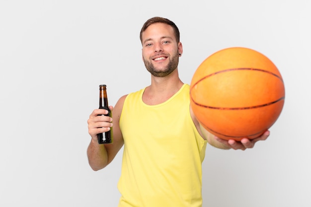
<instances>
[{"instance_id":1,"label":"short brown beard on the smiling man's jaw","mask_svg":"<svg viewBox=\"0 0 311 207\"><path fill-rule=\"evenodd\" d=\"M156 77L165 77L165 76L169 75L172 71L174 71L177 68L178 62L179 62L178 53L175 53L173 56L171 56L171 59L169 60L167 66L164 69L158 70L151 63L151 61L145 60L144 57L143 57L143 59L144 59L146 69L152 75L154 75Z\"/></svg>"}]
</instances>

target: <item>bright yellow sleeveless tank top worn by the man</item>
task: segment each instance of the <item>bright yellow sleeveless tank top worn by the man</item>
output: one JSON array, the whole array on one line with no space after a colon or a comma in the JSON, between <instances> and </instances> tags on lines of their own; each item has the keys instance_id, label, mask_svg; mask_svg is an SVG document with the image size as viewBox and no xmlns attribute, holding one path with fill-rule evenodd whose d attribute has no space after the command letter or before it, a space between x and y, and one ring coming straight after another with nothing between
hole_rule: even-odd
<instances>
[{"instance_id":1,"label":"bright yellow sleeveless tank top worn by the man","mask_svg":"<svg viewBox=\"0 0 311 207\"><path fill-rule=\"evenodd\" d=\"M119 207L201 207L207 141L190 116L189 85L153 106L142 101L144 90L126 97L120 117Z\"/></svg>"}]
</instances>

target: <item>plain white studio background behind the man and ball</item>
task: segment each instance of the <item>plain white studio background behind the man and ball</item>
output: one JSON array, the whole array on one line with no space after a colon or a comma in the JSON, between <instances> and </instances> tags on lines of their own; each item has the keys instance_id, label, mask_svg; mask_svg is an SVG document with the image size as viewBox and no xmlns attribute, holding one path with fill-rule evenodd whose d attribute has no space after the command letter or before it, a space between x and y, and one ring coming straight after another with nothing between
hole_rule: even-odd
<instances>
[{"instance_id":1,"label":"plain white studio background behind the man and ball","mask_svg":"<svg viewBox=\"0 0 311 207\"><path fill-rule=\"evenodd\" d=\"M117 206L122 150L92 171L86 121L99 84L110 105L150 84L139 32L163 16L180 29L184 82L235 46L266 55L285 82L266 141L207 147L203 207L310 207L310 9L310 0L0 0L0 206Z\"/></svg>"}]
</instances>

